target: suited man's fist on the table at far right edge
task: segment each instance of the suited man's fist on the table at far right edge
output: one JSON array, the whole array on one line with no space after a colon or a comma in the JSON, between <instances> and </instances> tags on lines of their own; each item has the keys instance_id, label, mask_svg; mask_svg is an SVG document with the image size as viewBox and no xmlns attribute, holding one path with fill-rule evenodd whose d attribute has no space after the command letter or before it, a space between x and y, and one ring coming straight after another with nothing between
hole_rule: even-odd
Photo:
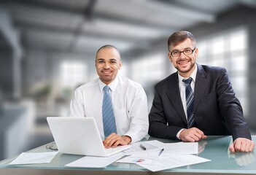
<instances>
[{"instance_id":1,"label":"suited man's fist on the table at far right edge","mask_svg":"<svg viewBox=\"0 0 256 175\"><path fill-rule=\"evenodd\" d=\"M255 142L246 138L237 138L229 146L230 152L252 152L255 149Z\"/></svg>"}]
</instances>

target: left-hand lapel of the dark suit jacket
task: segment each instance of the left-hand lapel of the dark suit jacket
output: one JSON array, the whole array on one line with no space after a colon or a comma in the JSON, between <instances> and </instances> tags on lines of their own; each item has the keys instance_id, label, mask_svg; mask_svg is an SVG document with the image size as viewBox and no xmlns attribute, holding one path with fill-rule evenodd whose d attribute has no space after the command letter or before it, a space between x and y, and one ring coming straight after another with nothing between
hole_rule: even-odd
<instances>
[{"instance_id":1,"label":"left-hand lapel of the dark suit jacket","mask_svg":"<svg viewBox=\"0 0 256 175\"><path fill-rule=\"evenodd\" d=\"M187 125L186 115L182 106L182 99L179 92L179 80L177 72L172 74L170 81L168 81L168 91L166 92L171 104L176 109L179 117L182 118L185 125Z\"/></svg>"}]
</instances>

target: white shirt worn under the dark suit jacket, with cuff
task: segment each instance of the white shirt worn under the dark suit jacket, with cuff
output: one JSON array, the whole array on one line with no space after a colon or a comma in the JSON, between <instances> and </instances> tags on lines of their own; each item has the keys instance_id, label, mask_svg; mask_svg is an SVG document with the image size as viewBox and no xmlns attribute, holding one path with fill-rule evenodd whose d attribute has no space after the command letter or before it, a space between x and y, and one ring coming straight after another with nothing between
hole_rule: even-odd
<instances>
[{"instance_id":1,"label":"white shirt worn under the dark suit jacket, with cuff","mask_svg":"<svg viewBox=\"0 0 256 175\"><path fill-rule=\"evenodd\" d=\"M195 77L196 77L196 73L198 71L198 66L195 66L195 70L192 72L192 74L190 74L190 77L192 78L192 82L190 84L191 89L195 90ZM184 82L182 82L183 79L185 79L185 77L182 77L180 74L178 74L179 77L179 92L180 92L180 97L182 98L182 105L183 105L183 109L184 112L186 114L186 118L187 118L187 100L186 100L186 85ZM186 77L186 79L189 77ZM177 133L177 138L179 139L179 134L183 131L184 129L180 130Z\"/></svg>"}]
</instances>

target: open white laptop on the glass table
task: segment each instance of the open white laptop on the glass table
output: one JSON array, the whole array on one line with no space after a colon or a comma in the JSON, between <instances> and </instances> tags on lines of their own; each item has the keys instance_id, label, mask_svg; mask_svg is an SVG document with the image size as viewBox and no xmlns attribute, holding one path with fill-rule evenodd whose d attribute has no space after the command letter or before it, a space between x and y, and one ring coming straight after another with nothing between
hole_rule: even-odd
<instances>
[{"instance_id":1,"label":"open white laptop on the glass table","mask_svg":"<svg viewBox=\"0 0 256 175\"><path fill-rule=\"evenodd\" d=\"M104 148L93 117L47 117L58 152L72 155L109 156L130 145Z\"/></svg>"}]
</instances>

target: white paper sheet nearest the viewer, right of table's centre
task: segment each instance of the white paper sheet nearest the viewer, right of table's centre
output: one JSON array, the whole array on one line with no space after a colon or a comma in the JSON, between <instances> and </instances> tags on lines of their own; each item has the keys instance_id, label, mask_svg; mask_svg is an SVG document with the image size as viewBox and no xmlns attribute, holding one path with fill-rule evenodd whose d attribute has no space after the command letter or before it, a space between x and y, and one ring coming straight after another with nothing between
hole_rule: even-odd
<instances>
[{"instance_id":1,"label":"white paper sheet nearest the viewer, right of table's centre","mask_svg":"<svg viewBox=\"0 0 256 175\"><path fill-rule=\"evenodd\" d=\"M200 158L195 155L175 155L172 157L158 158L152 157L136 162L137 165L149 169L150 171L162 171L169 168L189 166L197 163L209 162L211 160Z\"/></svg>"}]
</instances>

